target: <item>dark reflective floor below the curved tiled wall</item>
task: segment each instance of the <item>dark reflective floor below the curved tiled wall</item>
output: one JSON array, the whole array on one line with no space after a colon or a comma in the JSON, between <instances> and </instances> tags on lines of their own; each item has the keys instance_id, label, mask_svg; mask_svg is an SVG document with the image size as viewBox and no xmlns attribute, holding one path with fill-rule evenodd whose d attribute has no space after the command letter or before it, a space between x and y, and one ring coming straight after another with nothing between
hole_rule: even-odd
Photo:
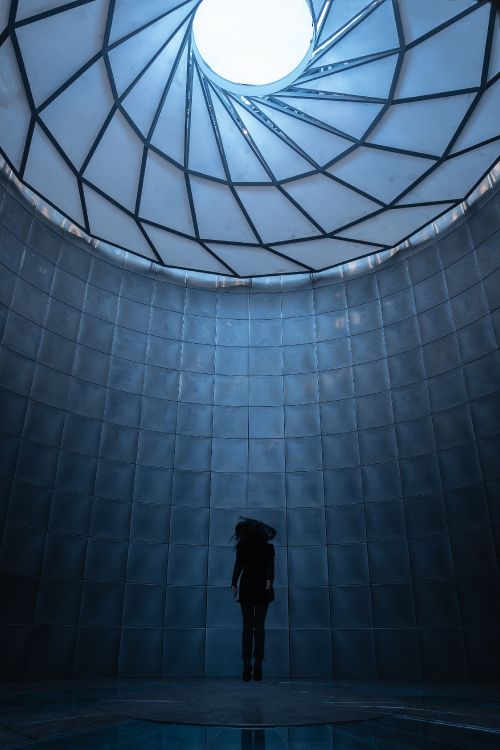
<instances>
[{"instance_id":1,"label":"dark reflective floor below the curved tiled wall","mask_svg":"<svg viewBox=\"0 0 500 750\"><path fill-rule=\"evenodd\" d=\"M299 679L0 684L0 748L500 748L500 686Z\"/></svg>"}]
</instances>

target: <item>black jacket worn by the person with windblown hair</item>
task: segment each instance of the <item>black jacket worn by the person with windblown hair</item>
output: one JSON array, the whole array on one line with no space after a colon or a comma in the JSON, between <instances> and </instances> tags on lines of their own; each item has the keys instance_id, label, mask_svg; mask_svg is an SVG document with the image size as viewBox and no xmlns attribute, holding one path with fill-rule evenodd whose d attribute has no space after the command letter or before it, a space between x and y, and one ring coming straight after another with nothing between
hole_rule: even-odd
<instances>
[{"instance_id":1,"label":"black jacket worn by the person with windblown hair","mask_svg":"<svg viewBox=\"0 0 500 750\"><path fill-rule=\"evenodd\" d=\"M232 586L237 585L240 574L239 602L269 601L266 595L266 580L270 580L271 584L274 581L274 545L269 542L238 542Z\"/></svg>"}]
</instances>

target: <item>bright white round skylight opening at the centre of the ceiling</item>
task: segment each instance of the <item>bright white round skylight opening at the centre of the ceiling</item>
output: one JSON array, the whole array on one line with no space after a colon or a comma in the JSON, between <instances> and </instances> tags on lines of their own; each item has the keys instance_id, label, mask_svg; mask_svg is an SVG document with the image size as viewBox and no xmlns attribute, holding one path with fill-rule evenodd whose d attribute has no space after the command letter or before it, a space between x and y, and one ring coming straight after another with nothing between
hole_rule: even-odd
<instances>
[{"instance_id":1,"label":"bright white round skylight opening at the centre of the ceiling","mask_svg":"<svg viewBox=\"0 0 500 750\"><path fill-rule=\"evenodd\" d=\"M306 0L203 0L193 31L199 54L217 75L261 86L300 65L313 22Z\"/></svg>"}]
</instances>

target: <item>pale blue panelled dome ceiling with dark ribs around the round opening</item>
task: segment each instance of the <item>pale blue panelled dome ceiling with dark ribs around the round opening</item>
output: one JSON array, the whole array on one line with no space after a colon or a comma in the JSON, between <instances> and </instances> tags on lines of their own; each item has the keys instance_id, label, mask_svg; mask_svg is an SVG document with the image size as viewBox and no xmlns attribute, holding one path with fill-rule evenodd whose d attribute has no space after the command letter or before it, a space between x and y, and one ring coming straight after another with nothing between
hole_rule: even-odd
<instances>
[{"instance_id":1,"label":"pale blue panelled dome ceiling with dark ribs around the round opening","mask_svg":"<svg viewBox=\"0 0 500 750\"><path fill-rule=\"evenodd\" d=\"M230 275L400 243L500 153L500 28L482 0L308 0L272 92L195 54L199 0L3 0L0 149L93 237Z\"/></svg>"}]
</instances>

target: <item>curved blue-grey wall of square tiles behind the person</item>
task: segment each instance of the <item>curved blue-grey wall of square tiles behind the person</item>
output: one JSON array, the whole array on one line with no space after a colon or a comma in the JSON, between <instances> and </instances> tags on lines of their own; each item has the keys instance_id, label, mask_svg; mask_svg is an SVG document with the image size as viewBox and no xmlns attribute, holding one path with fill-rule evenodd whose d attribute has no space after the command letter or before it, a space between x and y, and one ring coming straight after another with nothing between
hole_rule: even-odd
<instances>
[{"instance_id":1,"label":"curved blue-grey wall of square tiles behind the person","mask_svg":"<svg viewBox=\"0 0 500 750\"><path fill-rule=\"evenodd\" d=\"M238 674L244 514L268 676L498 678L498 200L362 276L217 287L1 188L2 677Z\"/></svg>"}]
</instances>

